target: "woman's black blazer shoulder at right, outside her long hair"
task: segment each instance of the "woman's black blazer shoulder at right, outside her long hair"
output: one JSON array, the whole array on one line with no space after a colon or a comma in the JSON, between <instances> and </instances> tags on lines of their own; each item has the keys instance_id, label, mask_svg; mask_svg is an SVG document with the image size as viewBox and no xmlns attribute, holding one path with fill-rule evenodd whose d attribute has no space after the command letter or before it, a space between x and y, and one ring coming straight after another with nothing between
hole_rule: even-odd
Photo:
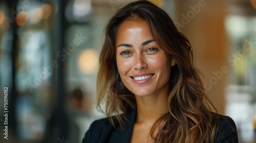
<instances>
[{"instance_id":1,"label":"woman's black blazer shoulder at right, outside her long hair","mask_svg":"<svg viewBox=\"0 0 256 143\"><path fill-rule=\"evenodd\" d=\"M218 121L216 142L238 142L237 126L232 118L218 114Z\"/></svg>"}]
</instances>

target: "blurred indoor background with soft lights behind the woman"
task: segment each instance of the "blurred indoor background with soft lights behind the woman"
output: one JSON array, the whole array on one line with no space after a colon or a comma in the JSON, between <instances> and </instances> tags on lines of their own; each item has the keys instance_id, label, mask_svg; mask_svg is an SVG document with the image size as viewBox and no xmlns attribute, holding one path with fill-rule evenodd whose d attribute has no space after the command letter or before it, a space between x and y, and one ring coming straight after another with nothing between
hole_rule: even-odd
<instances>
[{"instance_id":1,"label":"blurred indoor background with soft lights behind the woman","mask_svg":"<svg viewBox=\"0 0 256 143\"><path fill-rule=\"evenodd\" d=\"M0 142L80 142L104 117L95 109L102 31L129 2L0 1ZM240 142L256 142L256 0L151 2L188 37L209 98Z\"/></svg>"}]
</instances>

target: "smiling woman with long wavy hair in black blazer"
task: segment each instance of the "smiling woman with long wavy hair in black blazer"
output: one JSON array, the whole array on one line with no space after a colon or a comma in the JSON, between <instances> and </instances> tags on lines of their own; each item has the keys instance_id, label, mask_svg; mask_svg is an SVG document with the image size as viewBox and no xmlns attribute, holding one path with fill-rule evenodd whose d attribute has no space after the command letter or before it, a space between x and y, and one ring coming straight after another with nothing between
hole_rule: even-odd
<instances>
[{"instance_id":1,"label":"smiling woman with long wavy hair in black blazer","mask_svg":"<svg viewBox=\"0 0 256 143\"><path fill-rule=\"evenodd\" d=\"M191 46L166 12L147 1L120 9L105 28L95 121L83 142L238 142L213 105Z\"/></svg>"}]
</instances>

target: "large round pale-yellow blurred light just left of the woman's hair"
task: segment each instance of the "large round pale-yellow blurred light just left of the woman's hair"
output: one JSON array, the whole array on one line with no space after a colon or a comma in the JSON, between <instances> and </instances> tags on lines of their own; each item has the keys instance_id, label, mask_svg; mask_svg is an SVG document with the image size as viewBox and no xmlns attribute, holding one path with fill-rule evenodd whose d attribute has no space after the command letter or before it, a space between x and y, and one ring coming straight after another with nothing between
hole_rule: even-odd
<instances>
[{"instance_id":1,"label":"large round pale-yellow blurred light just left of the woman's hair","mask_svg":"<svg viewBox=\"0 0 256 143\"><path fill-rule=\"evenodd\" d=\"M78 58L79 69L84 74L93 74L98 67L98 54L93 49L81 52Z\"/></svg>"}]
</instances>

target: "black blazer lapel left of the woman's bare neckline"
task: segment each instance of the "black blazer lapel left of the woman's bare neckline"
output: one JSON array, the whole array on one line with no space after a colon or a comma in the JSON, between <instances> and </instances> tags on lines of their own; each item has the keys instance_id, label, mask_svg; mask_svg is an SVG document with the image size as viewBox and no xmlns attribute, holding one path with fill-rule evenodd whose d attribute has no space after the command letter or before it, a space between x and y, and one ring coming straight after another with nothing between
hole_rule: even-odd
<instances>
[{"instance_id":1,"label":"black blazer lapel left of the woman's bare neckline","mask_svg":"<svg viewBox=\"0 0 256 143\"><path fill-rule=\"evenodd\" d=\"M129 113L124 120L125 130L122 130L122 127L119 127L117 130L114 130L112 133L109 142L123 142L129 143L132 137L133 125L136 120L137 107L135 106L131 113Z\"/></svg>"}]
</instances>

